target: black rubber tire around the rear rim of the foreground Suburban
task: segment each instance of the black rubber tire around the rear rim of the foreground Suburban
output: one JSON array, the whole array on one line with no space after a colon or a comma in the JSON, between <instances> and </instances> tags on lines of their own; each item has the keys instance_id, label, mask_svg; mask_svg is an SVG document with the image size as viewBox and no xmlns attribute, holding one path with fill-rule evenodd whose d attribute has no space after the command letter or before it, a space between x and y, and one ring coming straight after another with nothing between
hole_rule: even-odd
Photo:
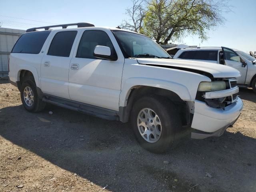
<instances>
[{"instance_id":1,"label":"black rubber tire around the rear rim of the foreground Suburban","mask_svg":"<svg viewBox=\"0 0 256 192\"><path fill-rule=\"evenodd\" d=\"M24 100L24 89L26 87L30 87L32 89L33 92L33 96L34 96L34 103L31 106L28 106L28 104L26 104L25 100ZM27 76L24 78L24 80L22 81L21 87L20 87L20 98L22 101L22 104L24 106L24 108L26 110L28 110L29 112L40 112L44 109L46 103L42 101L42 99L40 99L38 97L37 91L36 91L36 83L34 81L33 76Z\"/></svg>"}]
</instances>

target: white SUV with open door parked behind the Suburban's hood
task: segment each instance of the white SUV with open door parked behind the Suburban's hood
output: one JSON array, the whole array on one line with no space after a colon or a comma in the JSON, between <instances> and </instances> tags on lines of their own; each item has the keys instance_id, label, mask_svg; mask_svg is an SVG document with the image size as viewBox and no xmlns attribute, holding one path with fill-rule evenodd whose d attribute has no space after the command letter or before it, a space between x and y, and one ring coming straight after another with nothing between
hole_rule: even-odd
<instances>
[{"instance_id":1,"label":"white SUV with open door parked behind the Suburban's hood","mask_svg":"<svg viewBox=\"0 0 256 192\"><path fill-rule=\"evenodd\" d=\"M252 87L256 92L256 58L236 49L226 47L182 48L174 59L186 59L223 64L237 69L241 76L237 83L240 86Z\"/></svg>"}]
</instances>

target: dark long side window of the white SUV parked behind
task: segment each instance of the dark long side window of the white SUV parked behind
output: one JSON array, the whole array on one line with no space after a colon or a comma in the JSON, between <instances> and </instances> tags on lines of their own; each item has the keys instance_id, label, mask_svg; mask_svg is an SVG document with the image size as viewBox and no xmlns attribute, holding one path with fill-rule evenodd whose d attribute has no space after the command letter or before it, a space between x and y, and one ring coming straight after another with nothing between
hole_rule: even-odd
<instances>
[{"instance_id":1,"label":"dark long side window of the white SUV parked behind","mask_svg":"<svg viewBox=\"0 0 256 192\"><path fill-rule=\"evenodd\" d=\"M202 50L202 51L184 51L178 58L194 59L194 60L210 60L218 61L218 51Z\"/></svg>"}]
</instances>

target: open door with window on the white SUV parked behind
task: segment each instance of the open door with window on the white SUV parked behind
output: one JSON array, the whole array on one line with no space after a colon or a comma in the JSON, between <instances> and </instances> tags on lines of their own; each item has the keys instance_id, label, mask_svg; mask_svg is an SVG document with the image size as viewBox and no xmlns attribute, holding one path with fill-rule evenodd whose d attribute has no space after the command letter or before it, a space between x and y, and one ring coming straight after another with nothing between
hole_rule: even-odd
<instances>
[{"instance_id":1,"label":"open door with window on the white SUV parked behind","mask_svg":"<svg viewBox=\"0 0 256 192\"><path fill-rule=\"evenodd\" d=\"M222 51L225 65L237 69L241 73L241 76L237 78L237 83L244 84L247 74L247 64L244 64L244 60L234 50L222 47Z\"/></svg>"}]
</instances>

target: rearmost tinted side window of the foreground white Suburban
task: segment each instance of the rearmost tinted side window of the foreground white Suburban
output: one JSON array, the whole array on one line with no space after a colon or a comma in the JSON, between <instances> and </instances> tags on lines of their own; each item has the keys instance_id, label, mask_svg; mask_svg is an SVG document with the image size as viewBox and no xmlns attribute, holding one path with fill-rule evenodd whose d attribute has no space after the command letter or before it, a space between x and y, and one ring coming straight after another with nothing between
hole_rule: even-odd
<instances>
[{"instance_id":1,"label":"rearmost tinted side window of the foreground white Suburban","mask_svg":"<svg viewBox=\"0 0 256 192\"><path fill-rule=\"evenodd\" d=\"M50 31L30 32L23 34L12 48L12 53L40 53L49 34Z\"/></svg>"}]
</instances>

